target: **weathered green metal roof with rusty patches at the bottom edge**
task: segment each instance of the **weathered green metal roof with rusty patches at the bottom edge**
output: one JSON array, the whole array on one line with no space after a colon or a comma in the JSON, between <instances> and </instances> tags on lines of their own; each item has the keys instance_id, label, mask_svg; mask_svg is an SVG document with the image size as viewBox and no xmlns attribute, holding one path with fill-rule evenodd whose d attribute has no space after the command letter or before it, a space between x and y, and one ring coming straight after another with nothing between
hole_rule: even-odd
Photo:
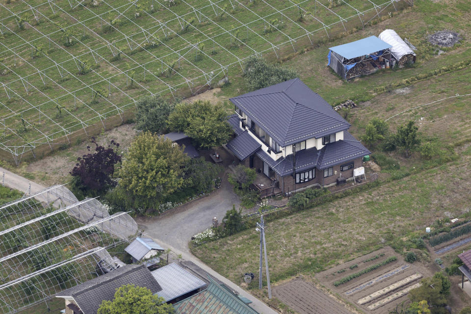
<instances>
[{"instance_id":1,"label":"weathered green metal roof with rusty patches at the bottom edge","mask_svg":"<svg viewBox=\"0 0 471 314\"><path fill-rule=\"evenodd\" d=\"M238 296L211 282L207 289L173 305L175 314L258 314Z\"/></svg>"}]
</instances>

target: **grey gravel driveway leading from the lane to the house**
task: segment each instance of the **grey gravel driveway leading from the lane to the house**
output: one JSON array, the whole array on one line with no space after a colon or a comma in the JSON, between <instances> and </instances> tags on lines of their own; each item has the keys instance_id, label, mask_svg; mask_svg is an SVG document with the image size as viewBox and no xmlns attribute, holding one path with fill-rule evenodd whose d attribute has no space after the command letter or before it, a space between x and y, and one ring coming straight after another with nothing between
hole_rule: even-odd
<instances>
[{"instance_id":1,"label":"grey gravel driveway leading from the lane to the house","mask_svg":"<svg viewBox=\"0 0 471 314\"><path fill-rule=\"evenodd\" d=\"M189 202L178 208L170 209L156 218L135 218L139 228L146 236L159 239L183 252L188 251L188 241L199 232L211 226L212 218L219 221L232 206L238 209L239 197L227 181L227 173L221 187L208 196Z\"/></svg>"}]
</instances>

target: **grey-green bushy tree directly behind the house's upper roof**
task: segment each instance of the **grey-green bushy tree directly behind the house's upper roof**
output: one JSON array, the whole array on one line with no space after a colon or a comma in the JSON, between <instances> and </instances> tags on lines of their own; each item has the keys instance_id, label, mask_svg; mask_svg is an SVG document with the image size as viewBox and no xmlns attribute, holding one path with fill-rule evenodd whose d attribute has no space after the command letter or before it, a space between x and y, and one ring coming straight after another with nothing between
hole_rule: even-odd
<instances>
[{"instance_id":1,"label":"grey-green bushy tree directly behind the house's upper roof","mask_svg":"<svg viewBox=\"0 0 471 314\"><path fill-rule=\"evenodd\" d=\"M278 64L268 63L262 57L252 56L244 66L244 81L249 91L297 78L295 70Z\"/></svg>"}]
</instances>

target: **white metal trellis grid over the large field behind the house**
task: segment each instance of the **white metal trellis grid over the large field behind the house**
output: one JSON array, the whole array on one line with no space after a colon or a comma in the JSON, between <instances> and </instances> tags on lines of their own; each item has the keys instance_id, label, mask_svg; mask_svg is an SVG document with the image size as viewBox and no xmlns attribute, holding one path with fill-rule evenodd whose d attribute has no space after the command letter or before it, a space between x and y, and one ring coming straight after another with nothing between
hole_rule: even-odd
<instances>
[{"instance_id":1,"label":"white metal trellis grid over the large field behind the house","mask_svg":"<svg viewBox=\"0 0 471 314\"><path fill-rule=\"evenodd\" d=\"M240 67L243 71L244 60L252 55L262 55L264 53L273 52L275 56L279 58L280 49L286 45L291 46L293 51L296 52L294 44L300 39L308 38L310 44L314 45L314 34L319 31L325 32L324 36L330 38L329 29L337 24L340 24L346 31L347 28L345 25L352 19L359 19L362 26L364 26L372 19L379 17L380 14L390 6L392 6L394 10L397 10L394 2L403 1L409 5L413 5L413 0L381 0L381 3L375 3L372 0L364 0L363 2L370 3L371 5L363 10L362 8L357 8L351 3L348 3L348 0L338 0L341 5L350 8L352 11L351 14L349 13L350 15L342 16L338 14L334 8L326 6L319 0L314 0L314 12L310 12L305 8L305 6L311 3L312 0L288 0L286 4L284 4L283 8L277 8L274 3L270 3L268 0L256 1L261 1L267 8L269 8L269 11L264 15L257 13L255 12L255 9L250 8L250 2L249 4L244 4L242 0L207 0L207 2L205 1L206 3L203 3L200 6L192 5L190 0L178 0L178 5L182 3L182 5L187 8L187 10L185 10L186 13L179 14L176 9L173 9L173 6L166 5L162 0L151 0L152 11L146 9L142 9L140 11L140 14L142 13L142 16L149 19L151 22L150 27L140 26L138 24L137 17L133 19L128 16L132 9L136 10L135 14L137 14L137 8L138 5L140 5L138 0L131 0L121 5L113 5L109 0L100 0L99 2L101 5L106 6L106 9L99 13L95 12L94 8L81 5L82 1L79 0L67 0L67 2L64 2L68 3L66 6L70 7L70 9L68 7L61 7L57 3L58 1L48 0L43 3L31 5L26 0L20 0L20 2L24 4L24 9L19 12L13 12L7 5L0 3L0 8L4 12L7 12L6 16L0 16L0 34L9 33L9 36L15 36L15 38L18 39L18 42L15 43L15 45L10 46L0 42L0 66L6 69L7 73L11 73L14 77L7 82L0 82L0 92L4 92L7 98L7 101L5 102L0 101L0 106L8 110L7 114L0 117L0 130L3 130L3 134L1 134L0 137L0 148L9 152L15 163L18 165L25 153L31 152L33 157L36 157L35 149L40 145L48 145L52 150L53 145L56 145L56 143L54 143L54 139L65 137L67 142L70 144L70 135L74 131L83 129L84 133L88 135L88 127L94 125L96 122L101 123L105 128L106 117L119 115L121 120L124 121L122 114L125 110L135 105L137 99L141 96L168 93L173 97L177 97L177 90L186 87L189 89L191 94L196 94L203 88L211 86L214 80L221 76L227 79L229 68L231 67ZM224 6L224 3L226 3L226 6ZM228 3L233 9L236 7L241 8L243 12L247 12L246 15L250 15L253 18L251 18L250 21L242 21L238 19L235 14L232 14L226 8ZM81 6L80 10L84 10L87 14L87 18L79 19L77 16L74 16L74 12L76 12L74 10L77 10L78 6ZM158 20L153 15L156 6L162 12L167 13L170 18L166 21ZM316 7L319 9L316 9ZM319 27L315 26L317 28L308 29L308 26L303 26L301 22L296 21L292 16L290 17L289 10L292 9L299 10L301 14L304 14L306 18L312 19L313 23L315 22L315 25L318 25ZM331 23L324 23L319 14L317 14L320 9L323 9L337 20L332 21ZM20 27L18 17L23 14L32 13L36 22L44 21L43 23L54 25L54 21L52 21L51 17L48 16L47 13L43 12L44 10L52 14L60 13L67 18L68 21L72 22L67 26L59 25L60 27L58 30L48 32L41 31L39 27L34 26L33 23L30 23L29 21L21 22L29 28L27 31L34 32L35 36L32 39L25 38L25 36L22 36L21 31L16 31L15 27ZM206 13L205 10L207 10ZM212 10L212 12L209 12L208 10ZM365 21L364 17L369 11L374 11L376 14L373 12L374 15L371 19ZM131 32L122 31L119 26L112 25L112 21L107 21L105 16L110 16L111 14L117 14L115 19L123 19L126 23L131 25ZM221 21L220 17L223 14L225 14L231 21L234 21L236 25L229 28L222 26L222 23L218 23L218 21ZM275 23L270 21L270 19L274 17L275 20L277 19L276 17L280 17L282 23L285 23L283 21L289 22L289 26L292 27L294 31L291 33L285 32L281 26L275 25ZM194 26L192 20L195 18L198 23L207 22L211 27L214 27L214 29L216 29L214 31L215 34L206 33L199 29L198 26ZM104 34L99 34L98 29L87 25L87 23L91 22L97 22L101 26L109 26L114 33L119 35L119 38L113 41L106 39ZM172 25L172 23L178 25L179 29L169 26ZM263 25L264 27L263 34L255 30L259 25ZM265 36L267 25L271 29L270 31L273 31L281 38L278 42L272 42ZM186 29L190 28L201 38L197 41L190 41L185 38L183 32L185 27ZM75 44L78 44L82 49L78 54L74 54L63 47L63 45L58 42L58 39L54 39L54 37L60 35L61 32L65 33L74 28L82 30L82 37L88 35L92 36L94 40L98 40L99 46L90 48L81 38L79 38L78 34L72 34L71 40L73 40ZM239 31L246 32L247 35L245 40L240 38L241 36L239 37L237 35ZM159 38L158 34L163 34L164 38ZM260 48L248 43L249 35L260 40L260 42L263 43L262 47ZM176 38L181 42L182 47L174 48L172 45L167 45L166 41L170 37ZM239 56L237 52L231 50L229 47L226 47L224 43L220 42L221 37L223 40L229 40L230 42L234 42L238 47L246 49L247 53L243 56ZM43 53L41 54L41 57L47 59L49 64L46 67L38 68L32 63L32 61L28 60L25 55L22 55L21 50L26 49L30 51L32 59L33 52L36 52L37 50L35 45L39 45L41 42L44 43L45 41L47 42L49 50L56 49L66 57L62 60L54 60L54 58L49 56L47 53ZM165 53L158 55L153 53L152 49L146 46L152 43L156 43L158 47L163 47L165 49ZM208 47L212 46L213 51L218 49L221 52L224 52L224 56L227 56L229 59L220 60L216 56L212 55L212 53L204 51L202 49L202 45L204 46L205 44L208 45ZM129 50L127 47L129 47ZM133 58L132 54L137 49L144 51L148 58L143 58L143 60ZM190 59L190 53L193 52L196 52L197 54L200 53L204 58L210 60L210 66L203 68L197 64L198 60L192 61ZM113 64L112 60L108 59L107 54L109 53L111 53L112 57L117 57L118 59L123 55L126 59L130 60L132 65L128 65L127 69L116 66ZM88 81L79 78L79 74L73 73L77 70L67 68L68 65L75 64L76 68L79 70L82 58L88 56L95 65L103 64L103 66L110 68L114 73L110 73L108 75L102 74L100 71L92 67L90 72L93 74L95 80L92 83L89 83ZM178 61L178 67L168 61L169 57L174 56L176 62ZM10 64L8 63L8 60L4 60L5 57L10 59ZM13 62L11 62L12 60ZM188 70L188 72L193 71L193 73L185 75L179 71L182 61L189 67L190 70ZM22 63L23 66L28 67L29 71L26 75L17 73L17 63ZM150 70L150 68L156 64L160 65L160 74ZM51 71L54 71L53 74L51 74ZM139 73L143 73L145 78L144 81L146 81L146 78L155 80L158 83L158 88L151 88L150 86L145 86L145 83L136 81L133 78L133 75L137 71L139 71ZM168 72L170 78L161 78L161 75L165 72ZM54 80L54 75L58 75L60 77L58 81ZM173 79L172 81L171 76L176 77L176 79ZM36 83L34 83L35 78ZM62 81L62 79L66 78L77 81L79 83L79 87L69 89L67 83L64 84ZM126 80L126 87L128 87L129 81L131 81L131 84L135 83L136 87L141 92L138 94L128 92L126 88L119 85L120 78ZM52 84L54 88L57 88L60 91L59 96L49 95L47 91L43 91L43 88L46 87L48 83ZM38 86L38 84L42 84L42 86ZM121 103L118 103L118 100L114 102L113 100L103 96L100 97L99 100L103 100L105 103L105 110L100 110L98 108L95 109L93 105L88 104L84 95L89 95L91 92L92 95L95 94L96 97L97 89L101 85L107 86L108 96L112 95L112 92L116 92L118 95L122 96L124 99L128 99L129 101L122 103L119 99ZM26 95L21 92L22 89L25 90ZM36 100L34 100L33 102L32 100L27 99L30 92L36 93L38 97L41 97L42 101L36 102ZM81 94L82 96L77 94ZM26 106L19 110L15 110L13 106L9 105L12 98L18 98L19 101ZM80 117L73 112L73 109L67 108L65 105L59 105L63 104L63 101L73 103L74 109L77 108L77 104L81 105L89 112L85 118ZM62 111L64 111L67 117L72 118L73 122L71 122L70 125L62 125L61 122L58 121L58 118L53 118L50 114L48 115L48 112L44 111L44 108L51 105L56 106L60 113L60 118L62 117ZM43 109L41 109L41 106ZM35 117L37 115L39 118L39 126L34 121L29 121L23 118L23 114L26 115L29 112L34 112ZM29 139L26 136L22 136L21 130L17 128L18 123L16 121L16 117L20 118L25 130L33 131L33 138ZM14 123L9 123L9 120L15 121ZM41 121L47 121L47 123L52 126L53 130L48 131L42 129ZM14 125L15 123L16 125ZM8 135L12 135L12 139L4 139L4 134L6 132Z\"/></svg>"}]
</instances>

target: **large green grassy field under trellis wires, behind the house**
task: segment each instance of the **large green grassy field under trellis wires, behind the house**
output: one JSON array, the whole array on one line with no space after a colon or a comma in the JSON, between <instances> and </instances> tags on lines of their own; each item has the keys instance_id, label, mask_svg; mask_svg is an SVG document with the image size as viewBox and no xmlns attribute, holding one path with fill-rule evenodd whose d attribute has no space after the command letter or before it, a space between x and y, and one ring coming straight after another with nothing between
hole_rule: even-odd
<instances>
[{"instance_id":1,"label":"large green grassy field under trellis wires, behind the house","mask_svg":"<svg viewBox=\"0 0 471 314\"><path fill-rule=\"evenodd\" d=\"M0 147L39 145L121 116L142 96L197 93L245 58L279 56L406 0L14 1L0 10ZM335 2L335 3L334 3ZM351 22L353 21L353 22Z\"/></svg>"}]
</instances>

